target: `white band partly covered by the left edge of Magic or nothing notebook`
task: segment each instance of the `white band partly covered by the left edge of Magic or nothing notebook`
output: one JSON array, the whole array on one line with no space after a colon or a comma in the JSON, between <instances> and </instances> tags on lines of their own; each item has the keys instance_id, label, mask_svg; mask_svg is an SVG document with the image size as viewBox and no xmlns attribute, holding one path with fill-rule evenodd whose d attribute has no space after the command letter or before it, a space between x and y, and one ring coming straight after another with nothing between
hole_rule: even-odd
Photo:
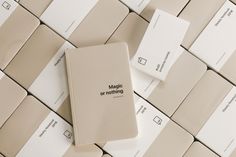
<instances>
[{"instance_id":1,"label":"white band partly covered by the left edge of Magic or nothing notebook","mask_svg":"<svg viewBox=\"0 0 236 157\"><path fill-rule=\"evenodd\" d=\"M29 91L54 111L69 95L65 50L74 48L65 42L30 86Z\"/></svg>"}]
</instances>

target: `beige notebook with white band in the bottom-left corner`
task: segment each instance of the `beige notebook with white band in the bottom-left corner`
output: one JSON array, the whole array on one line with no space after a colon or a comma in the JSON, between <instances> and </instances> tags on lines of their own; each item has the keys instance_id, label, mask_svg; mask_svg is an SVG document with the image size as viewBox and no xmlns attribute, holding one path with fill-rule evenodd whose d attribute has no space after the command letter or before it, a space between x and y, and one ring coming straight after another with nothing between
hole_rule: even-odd
<instances>
[{"instance_id":1,"label":"beige notebook with white band in the bottom-left corner","mask_svg":"<svg viewBox=\"0 0 236 157\"><path fill-rule=\"evenodd\" d=\"M27 96L0 129L0 152L6 157L102 156L102 150L93 144L75 147L71 131L69 123Z\"/></svg>"}]
</instances>

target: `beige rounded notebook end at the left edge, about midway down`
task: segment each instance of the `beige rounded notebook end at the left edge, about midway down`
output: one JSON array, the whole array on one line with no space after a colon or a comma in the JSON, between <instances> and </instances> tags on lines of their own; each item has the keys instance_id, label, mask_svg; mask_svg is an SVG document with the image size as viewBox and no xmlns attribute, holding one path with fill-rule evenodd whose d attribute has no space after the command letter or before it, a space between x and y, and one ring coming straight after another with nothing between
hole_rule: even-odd
<instances>
[{"instance_id":1,"label":"beige rounded notebook end at the left edge, about midway down","mask_svg":"<svg viewBox=\"0 0 236 157\"><path fill-rule=\"evenodd\" d=\"M27 92L6 75L0 79L0 128L26 95Z\"/></svg>"}]
</instances>

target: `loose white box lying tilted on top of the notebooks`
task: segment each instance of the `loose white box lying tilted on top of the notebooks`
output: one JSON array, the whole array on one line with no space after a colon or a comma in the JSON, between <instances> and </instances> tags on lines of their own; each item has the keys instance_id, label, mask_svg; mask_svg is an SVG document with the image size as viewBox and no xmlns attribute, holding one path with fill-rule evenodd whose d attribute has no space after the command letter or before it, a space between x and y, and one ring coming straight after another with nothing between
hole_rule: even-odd
<instances>
[{"instance_id":1,"label":"loose white box lying tilted on top of the notebooks","mask_svg":"<svg viewBox=\"0 0 236 157\"><path fill-rule=\"evenodd\" d=\"M156 10L137 53L132 58L132 65L155 78L165 80L180 56L180 44L188 26L188 22Z\"/></svg>"}]
</instances>

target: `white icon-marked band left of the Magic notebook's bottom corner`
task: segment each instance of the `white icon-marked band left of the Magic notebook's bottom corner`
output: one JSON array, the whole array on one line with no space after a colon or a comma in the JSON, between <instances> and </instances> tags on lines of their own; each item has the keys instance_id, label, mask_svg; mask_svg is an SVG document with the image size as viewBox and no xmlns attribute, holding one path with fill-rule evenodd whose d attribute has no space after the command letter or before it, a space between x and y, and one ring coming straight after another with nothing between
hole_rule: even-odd
<instances>
[{"instance_id":1,"label":"white icon-marked band left of the Magic notebook's bottom corner","mask_svg":"<svg viewBox=\"0 0 236 157\"><path fill-rule=\"evenodd\" d=\"M72 143L72 127L50 112L16 157L62 157Z\"/></svg>"}]
</instances>

